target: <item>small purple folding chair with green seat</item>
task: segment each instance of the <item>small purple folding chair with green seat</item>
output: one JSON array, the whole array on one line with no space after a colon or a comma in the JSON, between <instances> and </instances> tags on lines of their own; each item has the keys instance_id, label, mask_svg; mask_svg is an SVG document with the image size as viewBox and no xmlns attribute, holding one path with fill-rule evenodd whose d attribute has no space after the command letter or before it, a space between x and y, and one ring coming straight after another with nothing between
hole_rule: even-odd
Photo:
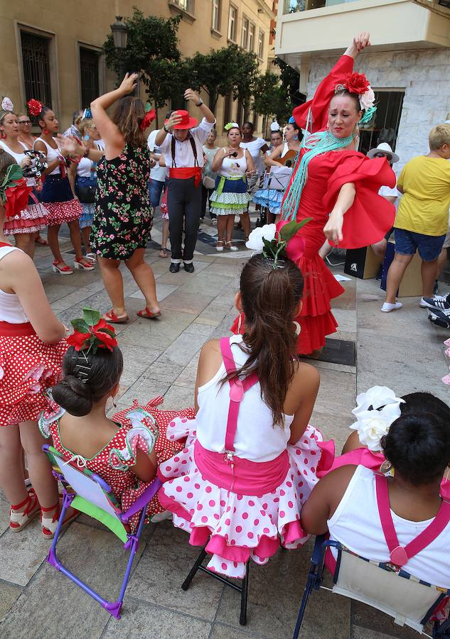
<instances>
[{"instance_id":1,"label":"small purple folding chair with green seat","mask_svg":"<svg viewBox=\"0 0 450 639\"><path fill-rule=\"evenodd\" d=\"M95 601L98 601L110 614L120 619L125 589L127 588L129 576L132 571L134 555L136 555L136 550L139 547L139 537L141 536L142 528L144 528L146 507L149 501L151 501L151 498L153 498L159 491L159 488L161 488L161 481L155 479L133 506L123 513L117 499L111 492L111 488L109 488L106 481L101 477L87 468L78 467L76 461L63 457L55 448L48 444L43 446L43 451L47 454L53 466L53 475L63 484L64 497L63 508L61 509L58 520L58 528L56 528L47 561L57 570L65 574L66 577L72 579L77 586L80 586L80 588L93 597ZM71 492L68 491L68 488ZM90 586L87 586L87 584L81 581L73 572L65 568L56 555L56 544L60 536L61 526L64 521L65 512L70 506L107 526L107 528L109 528L111 532L114 532L114 535L119 537L119 540L123 542L124 549L129 550L127 569L117 601L107 601L103 599L100 594L92 590ZM139 513L139 511L141 511L139 524L136 532L132 533L129 530L127 522L129 522L133 515Z\"/></svg>"}]
</instances>

